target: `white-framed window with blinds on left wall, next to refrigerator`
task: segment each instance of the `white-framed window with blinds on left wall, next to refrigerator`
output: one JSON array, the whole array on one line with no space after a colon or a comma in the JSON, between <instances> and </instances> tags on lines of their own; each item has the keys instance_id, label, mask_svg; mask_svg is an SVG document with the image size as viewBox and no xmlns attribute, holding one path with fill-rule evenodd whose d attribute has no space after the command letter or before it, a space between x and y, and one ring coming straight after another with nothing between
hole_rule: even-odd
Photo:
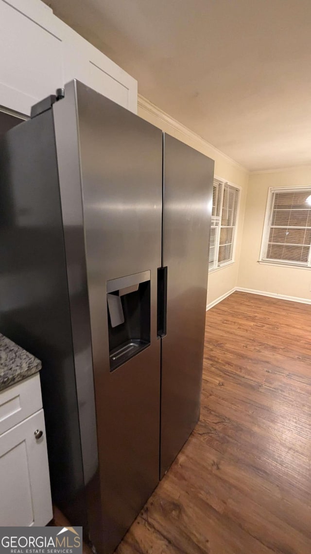
<instances>
[{"instance_id":1,"label":"white-framed window with blinds on left wall, next to refrigerator","mask_svg":"<svg viewBox=\"0 0 311 554\"><path fill-rule=\"evenodd\" d=\"M212 190L209 270L233 261L240 190L215 179Z\"/></svg>"}]
</instances>

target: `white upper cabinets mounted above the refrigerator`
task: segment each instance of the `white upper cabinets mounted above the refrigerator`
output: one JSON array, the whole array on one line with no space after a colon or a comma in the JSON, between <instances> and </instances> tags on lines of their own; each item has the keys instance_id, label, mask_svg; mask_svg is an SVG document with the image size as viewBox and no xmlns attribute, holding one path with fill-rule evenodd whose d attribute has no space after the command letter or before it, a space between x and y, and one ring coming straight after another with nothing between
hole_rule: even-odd
<instances>
[{"instance_id":1,"label":"white upper cabinets mounted above the refrigerator","mask_svg":"<svg viewBox=\"0 0 311 554\"><path fill-rule=\"evenodd\" d=\"M0 105L29 115L78 79L137 112L137 81L54 16L40 0L0 0Z\"/></svg>"}]
</instances>

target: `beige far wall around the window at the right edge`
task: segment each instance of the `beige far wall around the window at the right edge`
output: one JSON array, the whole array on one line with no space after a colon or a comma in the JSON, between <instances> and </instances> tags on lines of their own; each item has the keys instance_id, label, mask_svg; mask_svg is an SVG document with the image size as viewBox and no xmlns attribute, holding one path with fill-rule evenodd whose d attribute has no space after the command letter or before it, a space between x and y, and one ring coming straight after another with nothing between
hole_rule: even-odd
<instances>
[{"instance_id":1,"label":"beige far wall around the window at the right edge","mask_svg":"<svg viewBox=\"0 0 311 554\"><path fill-rule=\"evenodd\" d=\"M258 263L268 188L308 184L311 184L311 166L250 175L237 286L311 299L310 269Z\"/></svg>"}]
</instances>

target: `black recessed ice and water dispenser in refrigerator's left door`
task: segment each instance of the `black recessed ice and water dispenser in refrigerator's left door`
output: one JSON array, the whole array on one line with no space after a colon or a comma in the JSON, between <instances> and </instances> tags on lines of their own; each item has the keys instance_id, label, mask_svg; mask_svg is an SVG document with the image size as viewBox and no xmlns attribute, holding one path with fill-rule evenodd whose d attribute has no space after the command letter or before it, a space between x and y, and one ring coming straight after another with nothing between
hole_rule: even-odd
<instances>
[{"instance_id":1,"label":"black recessed ice and water dispenser in refrigerator's left door","mask_svg":"<svg viewBox=\"0 0 311 554\"><path fill-rule=\"evenodd\" d=\"M107 281L110 371L150 344L150 271Z\"/></svg>"}]
</instances>

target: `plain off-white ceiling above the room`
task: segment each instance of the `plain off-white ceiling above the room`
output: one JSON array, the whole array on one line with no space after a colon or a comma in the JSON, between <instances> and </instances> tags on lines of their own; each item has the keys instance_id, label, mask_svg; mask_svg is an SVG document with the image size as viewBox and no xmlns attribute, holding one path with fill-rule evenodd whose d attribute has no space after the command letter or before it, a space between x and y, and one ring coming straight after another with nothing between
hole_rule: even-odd
<instances>
[{"instance_id":1,"label":"plain off-white ceiling above the room","mask_svg":"<svg viewBox=\"0 0 311 554\"><path fill-rule=\"evenodd\" d=\"M311 163L310 0L46 0L248 170Z\"/></svg>"}]
</instances>

